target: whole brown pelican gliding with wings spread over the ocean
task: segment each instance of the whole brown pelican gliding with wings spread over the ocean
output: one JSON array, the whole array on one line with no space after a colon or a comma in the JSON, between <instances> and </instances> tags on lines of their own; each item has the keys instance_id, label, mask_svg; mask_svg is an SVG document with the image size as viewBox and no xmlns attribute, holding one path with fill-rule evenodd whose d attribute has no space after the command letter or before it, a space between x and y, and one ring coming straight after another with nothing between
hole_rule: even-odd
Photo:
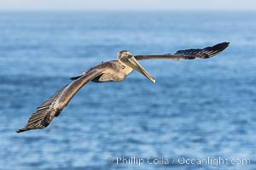
<instances>
[{"instance_id":1,"label":"whole brown pelican gliding with wings spread over the ocean","mask_svg":"<svg viewBox=\"0 0 256 170\"><path fill-rule=\"evenodd\" d=\"M54 95L47 99L32 116L29 117L25 127L16 132L21 133L32 129L47 127L49 123L61 114L73 96L87 82L122 82L125 77L131 74L134 69L147 77L151 82L155 82L148 72L138 63L143 59L207 59L222 52L229 46L229 42L218 43L207 48L191 48L178 50L175 54L156 55L132 55L129 51L123 50L117 54L118 60L111 60L100 65L93 66L82 72L78 77L72 77L70 82L59 89Z\"/></svg>"}]
</instances>

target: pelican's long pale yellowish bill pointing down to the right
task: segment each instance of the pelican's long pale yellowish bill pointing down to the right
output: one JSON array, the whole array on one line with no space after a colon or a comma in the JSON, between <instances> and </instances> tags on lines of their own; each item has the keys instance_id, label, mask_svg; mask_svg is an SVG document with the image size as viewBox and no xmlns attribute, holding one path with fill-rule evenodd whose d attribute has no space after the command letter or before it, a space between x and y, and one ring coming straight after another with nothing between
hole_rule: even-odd
<instances>
[{"instance_id":1,"label":"pelican's long pale yellowish bill pointing down to the right","mask_svg":"<svg viewBox=\"0 0 256 170\"><path fill-rule=\"evenodd\" d=\"M147 71L145 71L145 69L143 68L142 65L140 65L137 62L137 59L135 59L135 57L131 56L131 58L123 61L125 62L125 65L129 65L131 68L133 68L134 70L140 72L144 77L147 77L150 81L155 83L155 80L153 77L151 77Z\"/></svg>"}]
</instances>

